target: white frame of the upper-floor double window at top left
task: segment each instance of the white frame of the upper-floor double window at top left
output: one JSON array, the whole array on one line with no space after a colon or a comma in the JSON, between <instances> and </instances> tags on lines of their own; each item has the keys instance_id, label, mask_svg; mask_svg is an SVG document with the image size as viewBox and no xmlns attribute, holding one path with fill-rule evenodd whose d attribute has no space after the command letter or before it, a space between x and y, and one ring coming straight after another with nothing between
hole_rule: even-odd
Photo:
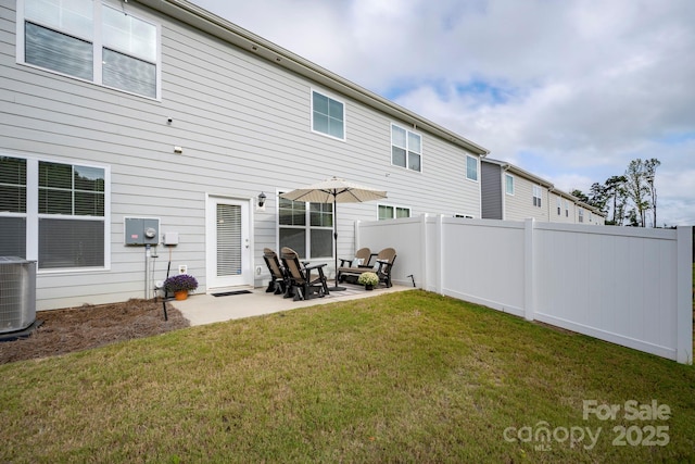
<instances>
[{"instance_id":1,"label":"white frame of the upper-floor double window at top left","mask_svg":"<svg viewBox=\"0 0 695 464\"><path fill-rule=\"evenodd\" d=\"M139 10L135 10L132 8L128 7L127 2L109 2L109 1L93 1L93 16L92 16L92 21L93 21L93 37L91 37L91 45L92 45L92 49L93 49L93 73L92 73L92 78L91 79L85 79L83 77L77 77L77 76L73 76L71 74L65 74L65 73L61 73L60 71L55 71L55 70L51 70L49 67L42 67L39 66L37 64L33 64L33 63L27 63L25 61L25 13L24 13L24 2L25 0L17 0L17 11L16 11L16 62L17 64L22 64L24 66L29 66L29 67L34 67L36 70L41 70L41 71L46 71L48 73L52 73L52 74L58 74L60 76L65 76L72 79L77 79L77 80L81 80L84 83L90 83L90 84L94 84L98 85L100 87L104 87L104 88L109 88L109 89L113 89L113 90L117 90L121 92L125 92L128 95L132 95L132 96L137 96L140 98L147 98L150 100L157 100L161 101L162 100L162 26L160 23L153 21L151 17L149 17L149 15L144 14L143 12L139 11ZM148 23L154 27L156 27L156 62L152 63L155 65L155 97L150 97L150 96L146 96L146 95L141 95L141 93L136 93L134 91L127 90L127 89L122 89L118 87L112 87L112 86L108 86L105 84L103 84L103 79L102 79L102 50L104 48L103 46L103 41L102 41L102 30L103 30L103 25L101 22L101 17L102 17L102 10L104 8L112 8L112 9L116 9L116 10L125 10L127 9L128 11L126 11L125 13L128 16L131 16L134 18L137 18L139 21L142 21L144 23ZM134 14L135 13L135 14ZM40 26L40 25L39 25ZM41 26L45 27L45 26ZM55 29L53 27L49 27L49 29L51 30L56 30L58 33L61 34L65 34L59 29ZM80 37L74 36L72 34L66 34L70 37L75 37L78 39L83 39ZM118 53L124 53L123 51L118 51L115 50ZM142 61L148 61L148 60L143 60L141 57L137 57L135 54L131 53L124 53L130 58L137 59L137 60L142 60ZM149 62L149 61L148 61Z\"/></svg>"}]
</instances>

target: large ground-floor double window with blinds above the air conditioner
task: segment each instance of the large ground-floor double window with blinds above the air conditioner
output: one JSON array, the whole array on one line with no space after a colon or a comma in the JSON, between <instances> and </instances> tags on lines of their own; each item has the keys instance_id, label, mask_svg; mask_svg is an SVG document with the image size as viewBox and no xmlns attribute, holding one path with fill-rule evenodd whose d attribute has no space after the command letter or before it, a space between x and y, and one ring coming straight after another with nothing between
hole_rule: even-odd
<instances>
[{"instance_id":1,"label":"large ground-floor double window with blinds above the air conditioner","mask_svg":"<svg viewBox=\"0 0 695 464\"><path fill-rule=\"evenodd\" d=\"M108 188L104 167L0 156L0 254L105 267Z\"/></svg>"}]
</instances>

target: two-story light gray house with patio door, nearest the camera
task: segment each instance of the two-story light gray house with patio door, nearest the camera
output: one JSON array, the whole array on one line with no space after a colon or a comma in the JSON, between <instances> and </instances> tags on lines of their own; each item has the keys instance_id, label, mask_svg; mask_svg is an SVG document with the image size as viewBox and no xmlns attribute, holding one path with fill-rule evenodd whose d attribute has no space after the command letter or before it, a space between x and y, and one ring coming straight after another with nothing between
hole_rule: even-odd
<instances>
[{"instance_id":1,"label":"two-story light gray house with patio door, nearest the camera","mask_svg":"<svg viewBox=\"0 0 695 464\"><path fill-rule=\"evenodd\" d=\"M388 191L341 204L340 256L357 220L481 215L484 148L192 3L0 20L0 255L38 262L38 310L150 297L169 263L261 286L264 247L332 267L332 206L278 195L333 175Z\"/></svg>"}]
</instances>

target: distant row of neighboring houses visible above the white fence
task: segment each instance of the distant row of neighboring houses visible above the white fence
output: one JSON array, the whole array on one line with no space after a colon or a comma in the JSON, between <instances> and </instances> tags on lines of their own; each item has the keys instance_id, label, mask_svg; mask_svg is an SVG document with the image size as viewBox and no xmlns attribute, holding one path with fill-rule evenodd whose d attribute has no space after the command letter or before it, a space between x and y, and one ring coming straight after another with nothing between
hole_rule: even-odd
<instances>
[{"instance_id":1,"label":"distant row of neighboring houses visible above the white fence","mask_svg":"<svg viewBox=\"0 0 695 464\"><path fill-rule=\"evenodd\" d=\"M514 164L481 160L482 217L604 225L605 214Z\"/></svg>"}]
</instances>

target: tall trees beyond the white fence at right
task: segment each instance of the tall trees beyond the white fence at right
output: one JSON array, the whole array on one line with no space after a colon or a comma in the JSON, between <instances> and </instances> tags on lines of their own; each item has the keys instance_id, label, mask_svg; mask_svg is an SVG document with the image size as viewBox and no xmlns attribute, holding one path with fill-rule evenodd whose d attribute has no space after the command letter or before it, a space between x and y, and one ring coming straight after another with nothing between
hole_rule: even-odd
<instances>
[{"instance_id":1,"label":"tall trees beyond the white fence at right","mask_svg":"<svg viewBox=\"0 0 695 464\"><path fill-rule=\"evenodd\" d=\"M589 192L572 190L572 196L606 214L606 225L657 227L656 158L632 160L624 174L594 183Z\"/></svg>"}]
</instances>

